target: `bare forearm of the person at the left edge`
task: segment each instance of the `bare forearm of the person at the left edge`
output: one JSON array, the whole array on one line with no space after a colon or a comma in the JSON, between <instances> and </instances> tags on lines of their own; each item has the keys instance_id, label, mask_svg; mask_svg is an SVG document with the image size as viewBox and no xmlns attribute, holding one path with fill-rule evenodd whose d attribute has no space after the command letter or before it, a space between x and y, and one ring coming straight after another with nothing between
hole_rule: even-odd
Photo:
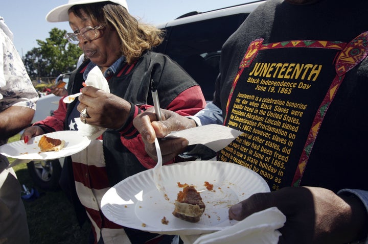
<instances>
[{"instance_id":1,"label":"bare forearm of the person at the left edge","mask_svg":"<svg viewBox=\"0 0 368 244\"><path fill-rule=\"evenodd\" d=\"M7 139L31 124L35 110L11 106L0 113L0 139Z\"/></svg>"}]
</instances>

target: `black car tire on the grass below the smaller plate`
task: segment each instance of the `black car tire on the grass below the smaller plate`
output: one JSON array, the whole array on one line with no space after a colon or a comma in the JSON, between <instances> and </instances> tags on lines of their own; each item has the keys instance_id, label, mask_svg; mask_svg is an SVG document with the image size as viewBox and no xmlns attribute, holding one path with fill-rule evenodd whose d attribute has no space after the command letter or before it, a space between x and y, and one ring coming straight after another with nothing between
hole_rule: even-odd
<instances>
[{"instance_id":1,"label":"black car tire on the grass below the smaller plate","mask_svg":"<svg viewBox=\"0 0 368 244\"><path fill-rule=\"evenodd\" d=\"M61 165L58 159L48 161L31 161L27 163L32 181L43 190L59 190Z\"/></svg>"}]
</instances>

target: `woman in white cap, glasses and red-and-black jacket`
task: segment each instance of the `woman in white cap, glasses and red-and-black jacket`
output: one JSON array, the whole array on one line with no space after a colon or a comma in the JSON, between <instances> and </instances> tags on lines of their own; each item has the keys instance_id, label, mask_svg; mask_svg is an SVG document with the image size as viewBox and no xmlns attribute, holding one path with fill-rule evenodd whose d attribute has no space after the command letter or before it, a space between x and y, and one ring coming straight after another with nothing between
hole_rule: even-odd
<instances>
[{"instance_id":1,"label":"woman in white cap, glasses and red-and-black jacket","mask_svg":"<svg viewBox=\"0 0 368 244\"><path fill-rule=\"evenodd\" d=\"M141 136L132 125L137 114L153 105L151 78L160 106L181 115L193 115L204 107L200 87L170 58L150 51L162 42L162 32L132 17L125 0L70 0L46 18L69 21L73 33L67 33L66 38L78 44L89 59L72 73L68 94L83 88L88 72L96 65L111 93L84 87L79 101L68 106L60 102L54 116L38 121L23 136L75 130L74 118L79 116L83 123L108 128L102 138L72 156L77 194L92 223L94 243L171 243L172 236L160 236L158 242L157 234L128 228L124 231L103 216L100 203L111 186L156 164L145 153ZM64 163L64 168L67 165ZM148 242L152 238L156 239ZM165 238L170 240L165 242Z\"/></svg>"}]
</instances>

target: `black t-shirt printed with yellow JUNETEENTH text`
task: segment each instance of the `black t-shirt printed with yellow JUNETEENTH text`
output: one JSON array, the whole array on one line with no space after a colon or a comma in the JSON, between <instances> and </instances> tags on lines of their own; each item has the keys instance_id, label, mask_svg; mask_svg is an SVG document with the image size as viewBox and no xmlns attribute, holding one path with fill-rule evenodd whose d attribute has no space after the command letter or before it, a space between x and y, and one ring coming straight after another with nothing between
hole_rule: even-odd
<instances>
[{"instance_id":1,"label":"black t-shirt printed with yellow JUNETEENTH text","mask_svg":"<svg viewBox=\"0 0 368 244\"><path fill-rule=\"evenodd\" d=\"M219 160L251 168L273 190L368 189L367 7L271 0L249 15L222 50L214 102L244 134Z\"/></svg>"}]
</instances>

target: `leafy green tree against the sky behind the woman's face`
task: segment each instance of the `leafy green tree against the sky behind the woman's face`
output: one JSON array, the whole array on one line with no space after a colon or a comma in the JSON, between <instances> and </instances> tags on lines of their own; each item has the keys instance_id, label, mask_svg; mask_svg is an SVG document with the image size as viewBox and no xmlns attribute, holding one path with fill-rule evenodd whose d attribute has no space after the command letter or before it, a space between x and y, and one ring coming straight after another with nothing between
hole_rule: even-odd
<instances>
[{"instance_id":1,"label":"leafy green tree against the sky behind the woman's face","mask_svg":"<svg viewBox=\"0 0 368 244\"><path fill-rule=\"evenodd\" d=\"M65 30L53 28L45 41L36 40L39 47L34 47L24 57L30 77L57 77L76 68L82 51L64 38L65 33Z\"/></svg>"}]
</instances>

